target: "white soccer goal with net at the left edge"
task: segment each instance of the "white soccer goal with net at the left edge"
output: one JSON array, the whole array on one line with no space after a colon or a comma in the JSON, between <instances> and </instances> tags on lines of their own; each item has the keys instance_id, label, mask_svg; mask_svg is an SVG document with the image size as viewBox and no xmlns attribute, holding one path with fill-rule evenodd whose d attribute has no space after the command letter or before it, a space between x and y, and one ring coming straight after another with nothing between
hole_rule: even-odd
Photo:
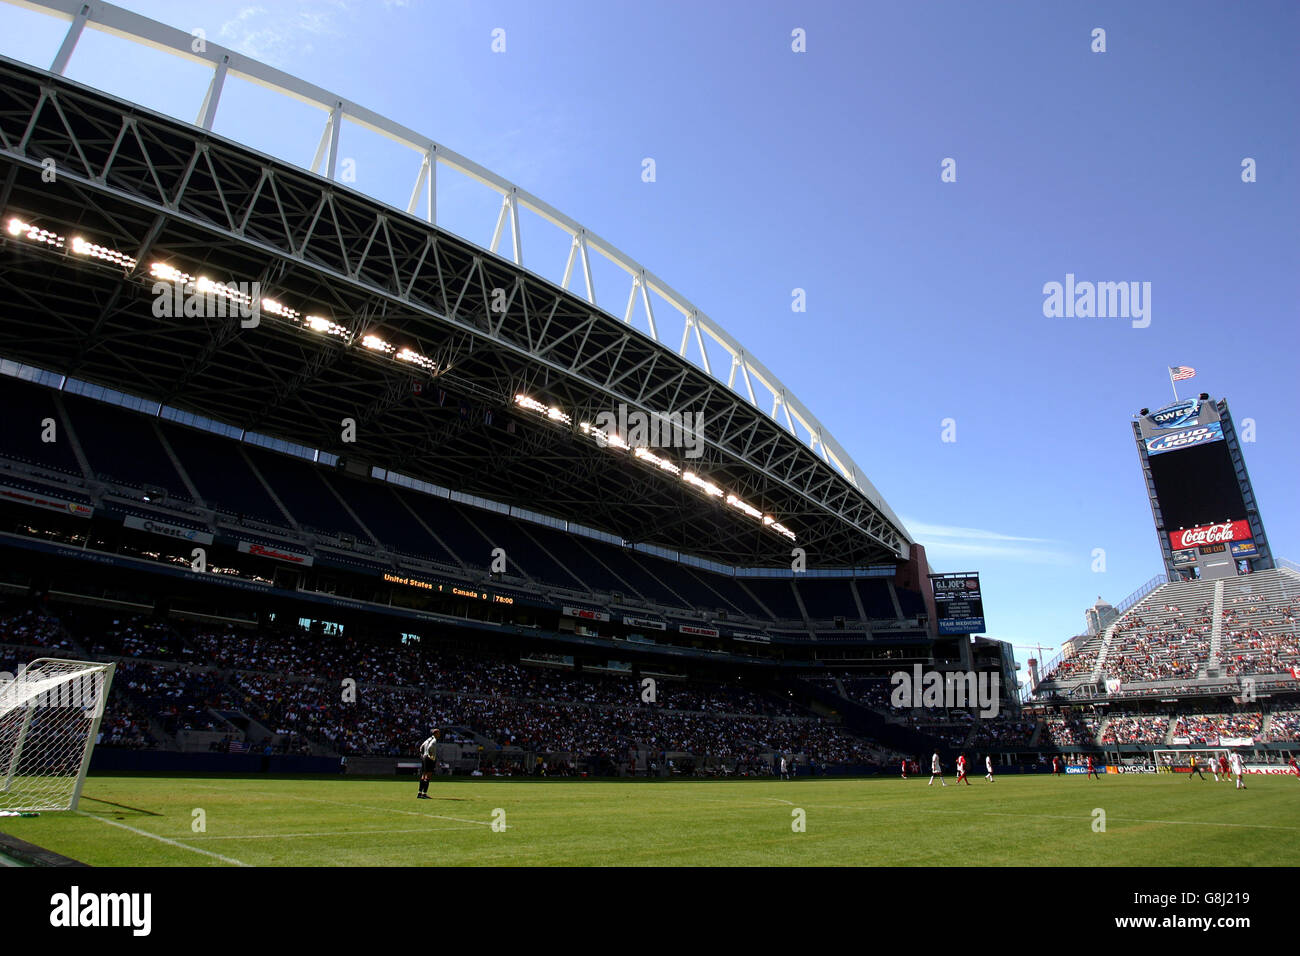
<instances>
[{"instance_id":1,"label":"white soccer goal with net at the left edge","mask_svg":"<svg viewBox=\"0 0 1300 956\"><path fill-rule=\"evenodd\" d=\"M77 809L116 666L43 657L0 683L0 812Z\"/></svg>"}]
</instances>

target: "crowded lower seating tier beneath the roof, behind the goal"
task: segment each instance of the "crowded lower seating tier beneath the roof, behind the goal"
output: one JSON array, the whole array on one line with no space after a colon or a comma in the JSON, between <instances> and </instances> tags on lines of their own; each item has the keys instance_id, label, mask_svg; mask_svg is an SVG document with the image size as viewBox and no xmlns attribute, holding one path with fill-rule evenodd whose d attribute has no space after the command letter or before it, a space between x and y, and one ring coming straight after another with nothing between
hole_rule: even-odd
<instances>
[{"instance_id":1,"label":"crowded lower seating tier beneath the roof, behind the goal","mask_svg":"<svg viewBox=\"0 0 1300 956\"><path fill-rule=\"evenodd\" d=\"M83 628L77 639L66 626ZM822 765L881 750L789 700L722 684L659 680L654 702L627 676L525 666L482 653L354 641L300 630L166 624L140 617L31 611L0 617L0 644L62 646L118 661L105 745L220 734L242 715L276 752L407 756L433 726L472 731L490 752L571 757L685 752L732 763L781 750ZM10 652L13 653L13 652ZM32 649L32 653L39 650ZM356 682L344 700L344 678Z\"/></svg>"}]
</instances>

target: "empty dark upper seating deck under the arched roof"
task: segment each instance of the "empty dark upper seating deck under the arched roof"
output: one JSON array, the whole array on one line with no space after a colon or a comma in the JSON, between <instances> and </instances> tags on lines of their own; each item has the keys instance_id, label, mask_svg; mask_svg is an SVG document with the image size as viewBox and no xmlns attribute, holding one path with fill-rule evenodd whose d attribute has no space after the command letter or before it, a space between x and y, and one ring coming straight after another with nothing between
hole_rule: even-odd
<instances>
[{"instance_id":1,"label":"empty dark upper seating deck under the arched roof","mask_svg":"<svg viewBox=\"0 0 1300 956\"><path fill-rule=\"evenodd\" d=\"M507 581L529 580L542 589L590 594L599 605L621 594L625 604L680 609L694 620L702 613L723 613L768 626L789 622L797 640L809 637L800 628L810 620L824 624L844 618L854 630L863 613L868 620L897 619L893 588L885 579L719 574L521 520L489 502L469 505L346 473L296 457L287 447L266 447L261 438L263 444L251 444L207 431L183 415L181 421L187 424L173 420L177 416L170 412L159 418L87 394L58 394L0 376L4 397L31 410L31 421L12 416L0 425L0 468L8 460L66 473L70 485L55 493L82 503L91 502L82 484L104 483L100 490L114 496L110 506L117 514L161 516L196 532L234 528L243 540L273 548L292 548L294 542L307 551L332 548L335 550L326 561L373 574L387 570L393 554L484 572L493 549L502 548ZM57 402L73 424L72 436L65 436L70 440L40 442L42 420L62 421ZM74 442L84 453L86 477L73 453ZM40 480L13 468L5 475L14 486L49 493ZM192 502L191 488L198 496ZM160 505L150 502L144 489L165 490L168 507L157 511ZM923 613L919 594L898 591L897 600L904 617Z\"/></svg>"}]
</instances>

